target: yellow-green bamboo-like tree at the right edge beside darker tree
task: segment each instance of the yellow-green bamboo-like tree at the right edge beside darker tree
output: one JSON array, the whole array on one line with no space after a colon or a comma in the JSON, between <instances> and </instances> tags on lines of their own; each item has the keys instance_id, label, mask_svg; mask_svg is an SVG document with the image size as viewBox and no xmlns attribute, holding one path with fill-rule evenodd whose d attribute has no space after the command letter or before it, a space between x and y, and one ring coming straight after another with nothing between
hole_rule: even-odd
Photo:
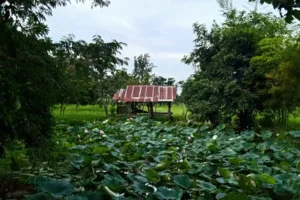
<instances>
[{"instance_id":1,"label":"yellow-green bamboo-like tree at the right edge beside darker tree","mask_svg":"<svg viewBox=\"0 0 300 200\"><path fill-rule=\"evenodd\" d=\"M259 43L258 55L251 64L267 78L268 87L261 92L271 95L264 107L278 124L286 124L300 100L299 36L287 34L265 38Z\"/></svg>"}]
</instances>

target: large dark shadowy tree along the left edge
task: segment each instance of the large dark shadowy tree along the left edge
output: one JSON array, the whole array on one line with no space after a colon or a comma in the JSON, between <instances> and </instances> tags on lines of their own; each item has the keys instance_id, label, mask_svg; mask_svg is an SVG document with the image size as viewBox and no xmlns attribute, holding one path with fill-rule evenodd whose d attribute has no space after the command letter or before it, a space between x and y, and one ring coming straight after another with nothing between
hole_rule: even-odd
<instances>
[{"instance_id":1,"label":"large dark shadowy tree along the left edge","mask_svg":"<svg viewBox=\"0 0 300 200\"><path fill-rule=\"evenodd\" d=\"M67 3L0 0L0 146L14 137L39 145L51 133L50 108L65 77L43 21L53 8ZM92 6L108 4L95 0Z\"/></svg>"}]
</instances>

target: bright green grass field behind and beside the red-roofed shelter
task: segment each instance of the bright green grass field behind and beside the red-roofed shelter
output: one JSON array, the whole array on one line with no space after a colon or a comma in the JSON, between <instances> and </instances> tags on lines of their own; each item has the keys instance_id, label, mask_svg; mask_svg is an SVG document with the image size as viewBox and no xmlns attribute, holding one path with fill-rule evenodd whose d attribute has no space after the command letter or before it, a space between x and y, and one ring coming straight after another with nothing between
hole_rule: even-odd
<instances>
[{"instance_id":1,"label":"bright green grass field behind and beside the red-roofed shelter","mask_svg":"<svg viewBox=\"0 0 300 200\"><path fill-rule=\"evenodd\" d=\"M156 105L154 107L154 111L167 112L168 107L166 105ZM176 121L183 120L183 109L179 105L172 105L172 112ZM66 107L64 115L60 115L60 109L57 107L53 110L53 115L58 121L97 121L104 120L106 118L104 109L100 108L99 105L79 106L76 111L76 105L71 104Z\"/></svg>"}]
</instances>

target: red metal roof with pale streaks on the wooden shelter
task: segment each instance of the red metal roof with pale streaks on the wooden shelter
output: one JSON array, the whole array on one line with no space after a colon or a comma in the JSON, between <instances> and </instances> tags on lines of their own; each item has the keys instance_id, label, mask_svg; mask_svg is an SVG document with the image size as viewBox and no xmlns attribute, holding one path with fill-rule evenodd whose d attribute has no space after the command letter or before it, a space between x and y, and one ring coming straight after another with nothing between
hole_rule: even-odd
<instances>
[{"instance_id":1,"label":"red metal roof with pale streaks on the wooden shelter","mask_svg":"<svg viewBox=\"0 0 300 200\"><path fill-rule=\"evenodd\" d=\"M128 85L114 94L114 101L121 102L173 102L175 86Z\"/></svg>"}]
</instances>

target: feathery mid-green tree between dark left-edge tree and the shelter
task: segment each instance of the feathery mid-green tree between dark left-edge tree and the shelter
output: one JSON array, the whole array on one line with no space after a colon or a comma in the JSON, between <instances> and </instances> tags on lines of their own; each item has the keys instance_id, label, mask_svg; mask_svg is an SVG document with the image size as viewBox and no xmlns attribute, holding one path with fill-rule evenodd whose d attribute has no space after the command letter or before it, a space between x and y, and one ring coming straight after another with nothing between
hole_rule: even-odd
<instances>
[{"instance_id":1,"label":"feathery mid-green tree between dark left-edge tree and the shelter","mask_svg":"<svg viewBox=\"0 0 300 200\"><path fill-rule=\"evenodd\" d=\"M124 69L117 69L117 65L127 65L127 58L117 56L124 45L115 40L106 43L98 35L91 43L74 41L69 36L57 44L55 55L65 68L68 82L61 92L62 110L68 103L86 104L97 98L108 116L111 96L129 79Z\"/></svg>"}]
</instances>

